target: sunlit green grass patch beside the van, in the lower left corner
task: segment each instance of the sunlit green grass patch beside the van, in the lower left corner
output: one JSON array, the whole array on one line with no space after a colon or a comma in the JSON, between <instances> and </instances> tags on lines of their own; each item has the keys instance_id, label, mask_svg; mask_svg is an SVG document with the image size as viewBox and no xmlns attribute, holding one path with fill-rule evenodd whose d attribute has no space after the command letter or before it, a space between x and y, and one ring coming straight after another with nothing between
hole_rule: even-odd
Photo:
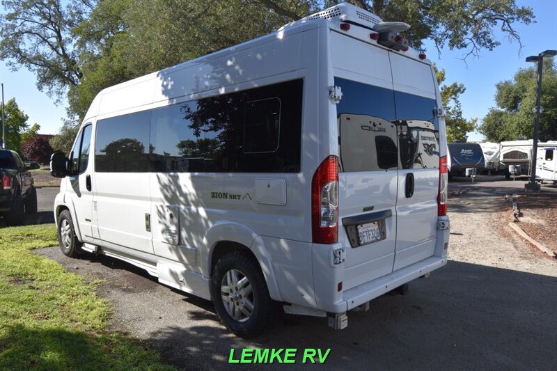
<instances>
[{"instance_id":1,"label":"sunlit green grass patch beside the van, in the lower left corner","mask_svg":"<svg viewBox=\"0 0 557 371\"><path fill-rule=\"evenodd\" d=\"M95 286L31 252L58 244L54 224L0 230L0 370L169 370L159 355L108 330Z\"/></svg>"}]
</instances>

